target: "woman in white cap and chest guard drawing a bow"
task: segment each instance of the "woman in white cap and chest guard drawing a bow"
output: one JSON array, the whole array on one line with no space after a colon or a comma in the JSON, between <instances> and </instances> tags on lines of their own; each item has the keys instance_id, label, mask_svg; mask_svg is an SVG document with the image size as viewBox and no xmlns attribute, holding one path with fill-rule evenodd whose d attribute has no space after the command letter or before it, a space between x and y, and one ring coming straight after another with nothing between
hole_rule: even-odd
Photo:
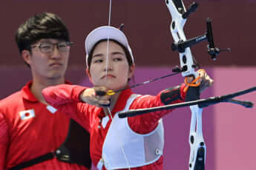
<instances>
[{"instance_id":1,"label":"woman in white cap and chest guard drawing a bow","mask_svg":"<svg viewBox=\"0 0 256 170\"><path fill-rule=\"evenodd\" d=\"M168 111L130 118L117 113L183 102L186 84L164 89L158 95L138 95L122 89L134 75L134 56L121 30L104 26L85 39L87 75L93 88L74 85L51 86L43 90L50 105L65 112L91 133L91 158L98 169L163 169L163 123ZM200 90L213 84L200 72ZM96 95L105 92L105 95Z\"/></svg>"}]
</instances>

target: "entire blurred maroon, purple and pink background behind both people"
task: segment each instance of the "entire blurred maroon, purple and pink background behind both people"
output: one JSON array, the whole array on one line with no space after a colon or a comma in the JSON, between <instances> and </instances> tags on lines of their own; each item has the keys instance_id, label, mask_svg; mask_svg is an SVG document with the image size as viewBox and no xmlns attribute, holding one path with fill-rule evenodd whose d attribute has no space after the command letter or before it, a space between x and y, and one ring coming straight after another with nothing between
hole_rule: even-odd
<instances>
[{"instance_id":1,"label":"entire blurred maroon, purple and pink background behind both people","mask_svg":"<svg viewBox=\"0 0 256 170\"><path fill-rule=\"evenodd\" d=\"M185 6L193 2L183 0ZM194 0L196 1L196 0ZM202 98L225 95L256 85L256 0L197 0L199 7L185 25L187 38L206 32L211 18L214 44L222 52L217 61L207 53L206 42L191 47L201 68L214 79L214 86ZM108 24L108 0L8 0L0 1L0 99L16 92L30 81L30 70L19 55L14 40L16 29L36 13L56 13L65 21L75 44L70 52L67 79L73 84L91 86L85 75L85 36L96 27ZM125 24L136 61L135 82L163 76L180 64L178 53L171 51L171 15L162 0L112 0L111 25ZM183 82L181 75L134 89L156 95L162 89ZM256 93L240 100L256 103ZM207 146L206 169L255 169L255 107L245 109L232 103L220 103L203 110L203 132ZM191 113L176 109L164 118L164 169L188 169L188 134ZM94 168L93 168L94 169Z\"/></svg>"}]
</instances>

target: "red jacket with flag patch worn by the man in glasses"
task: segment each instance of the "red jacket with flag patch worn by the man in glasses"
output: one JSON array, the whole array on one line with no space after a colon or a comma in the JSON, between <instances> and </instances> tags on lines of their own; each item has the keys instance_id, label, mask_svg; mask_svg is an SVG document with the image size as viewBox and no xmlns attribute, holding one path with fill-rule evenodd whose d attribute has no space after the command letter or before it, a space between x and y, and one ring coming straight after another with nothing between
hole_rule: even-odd
<instances>
[{"instance_id":1,"label":"red jacket with flag patch worn by the man in glasses","mask_svg":"<svg viewBox=\"0 0 256 170\"><path fill-rule=\"evenodd\" d=\"M0 101L0 170L10 169L42 154L53 152L68 135L70 118L39 102L30 92L32 82ZM56 158L26 170L85 170L84 166Z\"/></svg>"}]
</instances>

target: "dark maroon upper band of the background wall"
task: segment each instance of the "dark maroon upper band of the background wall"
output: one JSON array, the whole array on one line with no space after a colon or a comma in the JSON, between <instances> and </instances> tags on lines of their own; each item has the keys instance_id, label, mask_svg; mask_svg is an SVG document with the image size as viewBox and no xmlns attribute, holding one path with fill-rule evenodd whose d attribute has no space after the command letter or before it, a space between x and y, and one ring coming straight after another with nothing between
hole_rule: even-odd
<instances>
[{"instance_id":1,"label":"dark maroon upper band of the background wall","mask_svg":"<svg viewBox=\"0 0 256 170\"><path fill-rule=\"evenodd\" d=\"M192 0L184 0L186 7ZM186 23L186 36L191 38L206 31L206 18L212 19L217 47L231 47L232 52L220 55L212 62L206 43L193 47L198 61L205 65L254 65L255 0L197 0L197 12ZM107 0L1 0L1 65L21 65L14 42L14 33L25 18L48 11L58 14L70 29L72 41L71 65L84 66L85 35L99 25L108 24ZM171 52L169 31L171 16L164 0L113 0L111 25L124 23L138 65L162 66L177 64L177 54Z\"/></svg>"}]
</instances>

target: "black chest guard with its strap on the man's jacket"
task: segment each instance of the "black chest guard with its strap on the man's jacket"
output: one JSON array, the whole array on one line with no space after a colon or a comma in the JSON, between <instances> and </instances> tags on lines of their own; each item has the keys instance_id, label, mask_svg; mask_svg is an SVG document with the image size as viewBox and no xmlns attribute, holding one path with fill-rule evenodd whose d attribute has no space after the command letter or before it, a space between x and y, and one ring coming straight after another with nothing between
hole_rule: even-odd
<instances>
[{"instance_id":1,"label":"black chest guard with its strap on the man's jacket","mask_svg":"<svg viewBox=\"0 0 256 170\"><path fill-rule=\"evenodd\" d=\"M70 119L68 137L66 137L65 142L55 152L43 154L33 160L20 163L9 170L24 169L36 163L50 160L53 157L65 163L76 163L91 169L90 133L76 123L76 121Z\"/></svg>"}]
</instances>

